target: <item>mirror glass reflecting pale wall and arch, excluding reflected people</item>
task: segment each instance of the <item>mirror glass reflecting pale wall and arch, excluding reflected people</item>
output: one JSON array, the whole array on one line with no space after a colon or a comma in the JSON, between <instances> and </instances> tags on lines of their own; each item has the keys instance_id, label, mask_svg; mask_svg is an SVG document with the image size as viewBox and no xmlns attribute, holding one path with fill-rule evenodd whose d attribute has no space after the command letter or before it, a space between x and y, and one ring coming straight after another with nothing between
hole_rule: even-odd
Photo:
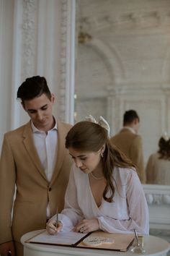
<instances>
[{"instance_id":1,"label":"mirror glass reflecting pale wall and arch, excluding reflected people","mask_svg":"<svg viewBox=\"0 0 170 256\"><path fill-rule=\"evenodd\" d=\"M88 33L76 47L76 121L103 115L111 135L122 116L140 116L145 163L170 134L169 0L77 1L77 34Z\"/></svg>"}]
</instances>

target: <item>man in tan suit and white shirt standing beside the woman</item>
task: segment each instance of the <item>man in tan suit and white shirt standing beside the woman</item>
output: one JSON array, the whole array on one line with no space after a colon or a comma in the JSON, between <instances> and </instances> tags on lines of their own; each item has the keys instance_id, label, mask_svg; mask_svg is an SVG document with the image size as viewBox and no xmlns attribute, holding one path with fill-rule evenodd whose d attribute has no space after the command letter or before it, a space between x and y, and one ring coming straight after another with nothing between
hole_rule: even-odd
<instances>
[{"instance_id":1,"label":"man in tan suit and white shirt standing beside the woman","mask_svg":"<svg viewBox=\"0 0 170 256\"><path fill-rule=\"evenodd\" d=\"M71 124L53 116L55 96L45 77L27 78L19 86L17 98L30 121L4 135L0 159L1 256L9 252L22 256L21 236L45 229L56 208L63 209L72 163L65 148Z\"/></svg>"}]
</instances>

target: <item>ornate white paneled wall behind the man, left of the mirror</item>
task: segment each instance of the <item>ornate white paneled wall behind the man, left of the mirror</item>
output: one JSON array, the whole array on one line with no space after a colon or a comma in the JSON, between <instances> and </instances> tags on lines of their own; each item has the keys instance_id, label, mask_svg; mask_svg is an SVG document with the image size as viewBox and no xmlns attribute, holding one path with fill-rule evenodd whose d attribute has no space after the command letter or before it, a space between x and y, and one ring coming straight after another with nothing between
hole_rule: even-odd
<instances>
[{"instance_id":1,"label":"ornate white paneled wall behind the man, left of the mirror","mask_svg":"<svg viewBox=\"0 0 170 256\"><path fill-rule=\"evenodd\" d=\"M4 132L28 120L16 100L17 88L27 77L45 76L56 96L55 116L73 123L74 30L68 30L75 19L70 11L73 4L67 0L0 1L0 148Z\"/></svg>"}]
</instances>

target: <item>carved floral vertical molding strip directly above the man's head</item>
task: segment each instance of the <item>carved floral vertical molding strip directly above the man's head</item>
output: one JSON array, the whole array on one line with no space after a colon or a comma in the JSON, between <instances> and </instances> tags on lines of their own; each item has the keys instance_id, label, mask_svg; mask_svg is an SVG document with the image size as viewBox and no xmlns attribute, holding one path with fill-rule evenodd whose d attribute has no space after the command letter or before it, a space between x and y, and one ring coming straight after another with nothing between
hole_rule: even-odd
<instances>
[{"instance_id":1,"label":"carved floral vertical molding strip directly above the man's head","mask_svg":"<svg viewBox=\"0 0 170 256\"><path fill-rule=\"evenodd\" d=\"M23 1L22 16L22 80L30 77L35 72L36 48L36 9L37 1Z\"/></svg>"}]
</instances>

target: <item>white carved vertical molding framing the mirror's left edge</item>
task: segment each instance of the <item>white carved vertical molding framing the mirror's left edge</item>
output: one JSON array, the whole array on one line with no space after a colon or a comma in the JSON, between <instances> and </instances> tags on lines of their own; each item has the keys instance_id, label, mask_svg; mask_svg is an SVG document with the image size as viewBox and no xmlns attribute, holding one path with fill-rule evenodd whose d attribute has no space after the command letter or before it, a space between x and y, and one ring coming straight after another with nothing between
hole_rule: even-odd
<instances>
[{"instance_id":1,"label":"white carved vertical molding framing the mirror's left edge","mask_svg":"<svg viewBox=\"0 0 170 256\"><path fill-rule=\"evenodd\" d=\"M75 0L61 0L61 85L60 118L73 124Z\"/></svg>"}]
</instances>

